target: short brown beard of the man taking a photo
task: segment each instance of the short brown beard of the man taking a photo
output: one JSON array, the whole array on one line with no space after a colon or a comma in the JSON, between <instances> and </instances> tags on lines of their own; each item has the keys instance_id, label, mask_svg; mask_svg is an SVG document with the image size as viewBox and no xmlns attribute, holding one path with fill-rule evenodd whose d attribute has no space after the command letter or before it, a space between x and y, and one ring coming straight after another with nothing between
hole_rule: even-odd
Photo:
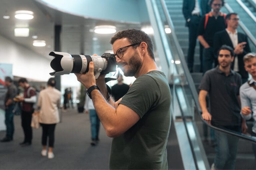
<instances>
[{"instance_id":1,"label":"short brown beard of the man taking a photo","mask_svg":"<svg viewBox=\"0 0 256 170\"><path fill-rule=\"evenodd\" d=\"M137 51L133 54L128 62L128 69L124 72L125 76L134 76L142 65L142 61L137 53Z\"/></svg>"}]
</instances>

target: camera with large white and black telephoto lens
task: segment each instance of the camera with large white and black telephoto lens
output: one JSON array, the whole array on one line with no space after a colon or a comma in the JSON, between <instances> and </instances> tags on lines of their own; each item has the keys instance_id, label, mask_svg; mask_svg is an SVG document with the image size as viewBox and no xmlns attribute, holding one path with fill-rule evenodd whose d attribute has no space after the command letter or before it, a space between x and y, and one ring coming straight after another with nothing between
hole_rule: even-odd
<instances>
[{"instance_id":1,"label":"camera with large white and black telephoto lens","mask_svg":"<svg viewBox=\"0 0 256 170\"><path fill-rule=\"evenodd\" d=\"M63 75L69 73L87 73L89 63L94 63L94 75L97 79L100 74L116 71L116 58L114 54L104 53L97 55L73 55L66 52L52 51L49 55L55 58L51 61L51 67L55 72L50 75Z\"/></svg>"}]
</instances>

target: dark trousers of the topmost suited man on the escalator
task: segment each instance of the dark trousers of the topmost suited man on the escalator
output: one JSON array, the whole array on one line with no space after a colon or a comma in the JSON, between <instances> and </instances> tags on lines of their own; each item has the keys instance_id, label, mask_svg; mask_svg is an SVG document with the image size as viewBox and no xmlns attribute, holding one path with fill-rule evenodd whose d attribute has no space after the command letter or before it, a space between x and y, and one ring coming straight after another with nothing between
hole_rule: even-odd
<instances>
[{"instance_id":1,"label":"dark trousers of the topmost suited man on the escalator","mask_svg":"<svg viewBox=\"0 0 256 170\"><path fill-rule=\"evenodd\" d=\"M188 55L187 55L187 64L188 69L190 72L193 72L193 65L194 65L194 54L195 54L195 46L196 46L196 40L197 40L197 31L198 31L198 25L201 20L201 16L192 15L190 18L190 22L188 25L189 30L189 47L188 47ZM202 53L203 53L203 47L201 43L200 45L200 72L202 72Z\"/></svg>"}]
</instances>

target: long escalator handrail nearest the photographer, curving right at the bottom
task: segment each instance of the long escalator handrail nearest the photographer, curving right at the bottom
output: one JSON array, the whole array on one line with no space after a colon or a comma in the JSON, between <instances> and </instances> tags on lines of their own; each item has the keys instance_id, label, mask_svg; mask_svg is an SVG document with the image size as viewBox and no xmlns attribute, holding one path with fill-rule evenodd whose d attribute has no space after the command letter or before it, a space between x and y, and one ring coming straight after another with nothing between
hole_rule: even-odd
<instances>
[{"instance_id":1,"label":"long escalator handrail nearest the photographer, curving right at the bottom","mask_svg":"<svg viewBox=\"0 0 256 170\"><path fill-rule=\"evenodd\" d=\"M202 115L202 110L201 110L201 107L200 107L200 104L199 104L199 101L198 101L198 94L197 94L197 91L196 91L196 88L195 88L195 84L194 84L194 81L191 77L191 74L189 73L189 70L188 70L188 67L187 67L187 64L185 62L185 59L184 59L184 54L183 54L183 51L181 49L181 46L180 46L180 43L178 42L178 39L177 39L177 36L175 34L175 30L174 30L174 27L173 27L173 23L172 23L172 20L171 20L171 17L170 17L170 14L168 13L168 9L167 9L167 6L164 2L164 0L161 0L161 5L162 5L162 8L163 8L163 11L164 11L164 14L165 14L165 17L167 19L167 23L173 33L173 40L175 42L175 46L177 48L177 51L178 51L178 55L179 55L179 58L180 58L180 61L181 61L181 64L182 64L182 67L184 69L184 74L187 78L187 81L188 81L188 84L189 84L189 87L191 89L191 92L192 92L192 96L194 98L194 101L195 101L195 105L196 105L196 109L199 113L199 116L201 118L201 120L204 122L204 124L206 124L207 126L213 128L213 129L216 129L218 131L222 131L222 132L225 132L227 134L230 134L230 135L233 135L233 136L237 136L239 138L243 138L243 139L246 139L246 140L250 140L250 141L253 141L253 142L256 142L256 138L252 138L252 137L249 137L247 135L242 135L242 134L237 134L235 132L232 132L232 131L228 131L228 130L225 130L225 129L221 129L221 128L217 128L217 127L214 127L212 126L211 124L209 124L207 121L205 121L203 119L203 117L201 116ZM228 7L229 9L231 9L231 7L225 3L225 6L226 8ZM232 10L232 9L231 9ZM229 11L230 12L230 11ZM245 26L244 26L245 27ZM246 28L246 27L245 27ZM182 57L183 56L183 57Z\"/></svg>"}]
</instances>

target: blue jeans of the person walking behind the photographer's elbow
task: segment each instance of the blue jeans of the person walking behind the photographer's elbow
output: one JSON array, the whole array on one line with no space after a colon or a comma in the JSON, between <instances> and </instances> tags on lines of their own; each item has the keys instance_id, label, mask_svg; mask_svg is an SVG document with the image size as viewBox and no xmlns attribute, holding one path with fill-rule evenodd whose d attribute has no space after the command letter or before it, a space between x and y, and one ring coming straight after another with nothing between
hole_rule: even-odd
<instances>
[{"instance_id":1,"label":"blue jeans of the person walking behind the photographer's elbow","mask_svg":"<svg viewBox=\"0 0 256 170\"><path fill-rule=\"evenodd\" d=\"M94 109L89 110L90 122L91 122L91 135L92 140L98 139L100 129L100 119Z\"/></svg>"}]
</instances>

